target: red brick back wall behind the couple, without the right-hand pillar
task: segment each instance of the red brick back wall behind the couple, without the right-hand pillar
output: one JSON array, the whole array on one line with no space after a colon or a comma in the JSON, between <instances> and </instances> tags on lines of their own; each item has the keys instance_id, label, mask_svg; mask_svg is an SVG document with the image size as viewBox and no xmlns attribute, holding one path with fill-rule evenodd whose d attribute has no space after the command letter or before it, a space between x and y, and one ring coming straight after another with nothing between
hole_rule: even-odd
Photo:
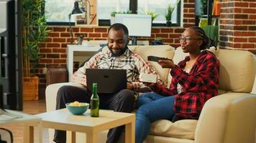
<instances>
[{"instance_id":1,"label":"red brick back wall behind the couple, without the right-hand pillar","mask_svg":"<svg viewBox=\"0 0 256 143\"><path fill-rule=\"evenodd\" d=\"M193 26L194 0L184 0L183 6L183 27ZM161 37L163 43L178 47L178 36L184 31L183 27L152 27L151 37L139 37L139 40L149 40L152 42L156 37ZM73 27L73 34L76 36L83 34L91 40L106 40L108 26L85 26ZM66 66L66 47L70 43L70 33L68 26L49 26L52 30L47 41L40 44L41 58L35 72L40 77L40 97L44 97L45 91L45 69L57 66Z\"/></svg>"}]
</instances>

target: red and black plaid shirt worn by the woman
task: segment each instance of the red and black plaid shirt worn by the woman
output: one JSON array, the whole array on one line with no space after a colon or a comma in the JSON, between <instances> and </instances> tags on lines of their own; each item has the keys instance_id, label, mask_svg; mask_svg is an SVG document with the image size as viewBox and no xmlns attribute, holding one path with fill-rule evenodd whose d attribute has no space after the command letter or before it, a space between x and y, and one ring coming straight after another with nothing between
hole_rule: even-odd
<instances>
[{"instance_id":1,"label":"red and black plaid shirt worn by the woman","mask_svg":"<svg viewBox=\"0 0 256 143\"><path fill-rule=\"evenodd\" d=\"M210 51L202 51L191 71L183 71L189 56L180 61L171 71L172 80L170 88L166 89L157 84L156 92L163 95L175 96L173 109L176 116L184 119L198 119L204 103L218 94L219 87L219 61ZM178 94L177 84L183 87Z\"/></svg>"}]
</instances>

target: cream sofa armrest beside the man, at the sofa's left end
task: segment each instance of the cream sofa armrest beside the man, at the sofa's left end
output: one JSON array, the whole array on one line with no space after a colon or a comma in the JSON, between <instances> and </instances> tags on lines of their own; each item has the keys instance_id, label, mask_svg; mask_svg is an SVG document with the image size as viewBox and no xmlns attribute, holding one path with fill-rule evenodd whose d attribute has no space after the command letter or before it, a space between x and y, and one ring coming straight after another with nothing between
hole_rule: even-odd
<instances>
[{"instance_id":1,"label":"cream sofa armrest beside the man, at the sofa's left end","mask_svg":"<svg viewBox=\"0 0 256 143\"><path fill-rule=\"evenodd\" d=\"M63 87L64 85L83 87L81 84L75 84L72 82L64 82L64 83L48 85L45 89L45 101L46 101L46 111L47 112L55 110L57 92L60 89L60 87Z\"/></svg>"}]
</instances>

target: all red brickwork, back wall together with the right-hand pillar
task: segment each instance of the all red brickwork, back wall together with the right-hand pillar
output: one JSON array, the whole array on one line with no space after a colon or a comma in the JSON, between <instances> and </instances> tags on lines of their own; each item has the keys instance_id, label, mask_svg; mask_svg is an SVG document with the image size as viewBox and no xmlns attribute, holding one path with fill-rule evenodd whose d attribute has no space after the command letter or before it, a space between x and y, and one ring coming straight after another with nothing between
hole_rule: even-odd
<instances>
[{"instance_id":1,"label":"all red brickwork, back wall together with the right-hand pillar","mask_svg":"<svg viewBox=\"0 0 256 143\"><path fill-rule=\"evenodd\" d=\"M194 0L184 0L183 27L153 27L151 37L140 37L150 42L161 37L165 44L177 47L178 36L184 28L193 26ZM75 37L83 34L91 40L106 40L107 26L73 27ZM68 26L49 26L52 30L47 41L40 44L40 64L35 74L40 77L40 94L44 97L45 69L50 66L66 66L66 46L70 43ZM221 0L219 17L219 46L225 49L243 49L256 54L256 1Z\"/></svg>"}]
</instances>

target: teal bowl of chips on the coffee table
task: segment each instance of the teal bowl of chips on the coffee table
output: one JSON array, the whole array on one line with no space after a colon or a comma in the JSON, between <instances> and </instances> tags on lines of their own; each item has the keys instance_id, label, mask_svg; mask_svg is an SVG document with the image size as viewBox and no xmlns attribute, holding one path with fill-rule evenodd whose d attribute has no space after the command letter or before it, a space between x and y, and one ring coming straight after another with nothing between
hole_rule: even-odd
<instances>
[{"instance_id":1,"label":"teal bowl of chips on the coffee table","mask_svg":"<svg viewBox=\"0 0 256 143\"><path fill-rule=\"evenodd\" d=\"M83 114L88 109L89 104L83 102L71 102L65 104L65 107L67 107L68 111L72 114Z\"/></svg>"}]
</instances>

